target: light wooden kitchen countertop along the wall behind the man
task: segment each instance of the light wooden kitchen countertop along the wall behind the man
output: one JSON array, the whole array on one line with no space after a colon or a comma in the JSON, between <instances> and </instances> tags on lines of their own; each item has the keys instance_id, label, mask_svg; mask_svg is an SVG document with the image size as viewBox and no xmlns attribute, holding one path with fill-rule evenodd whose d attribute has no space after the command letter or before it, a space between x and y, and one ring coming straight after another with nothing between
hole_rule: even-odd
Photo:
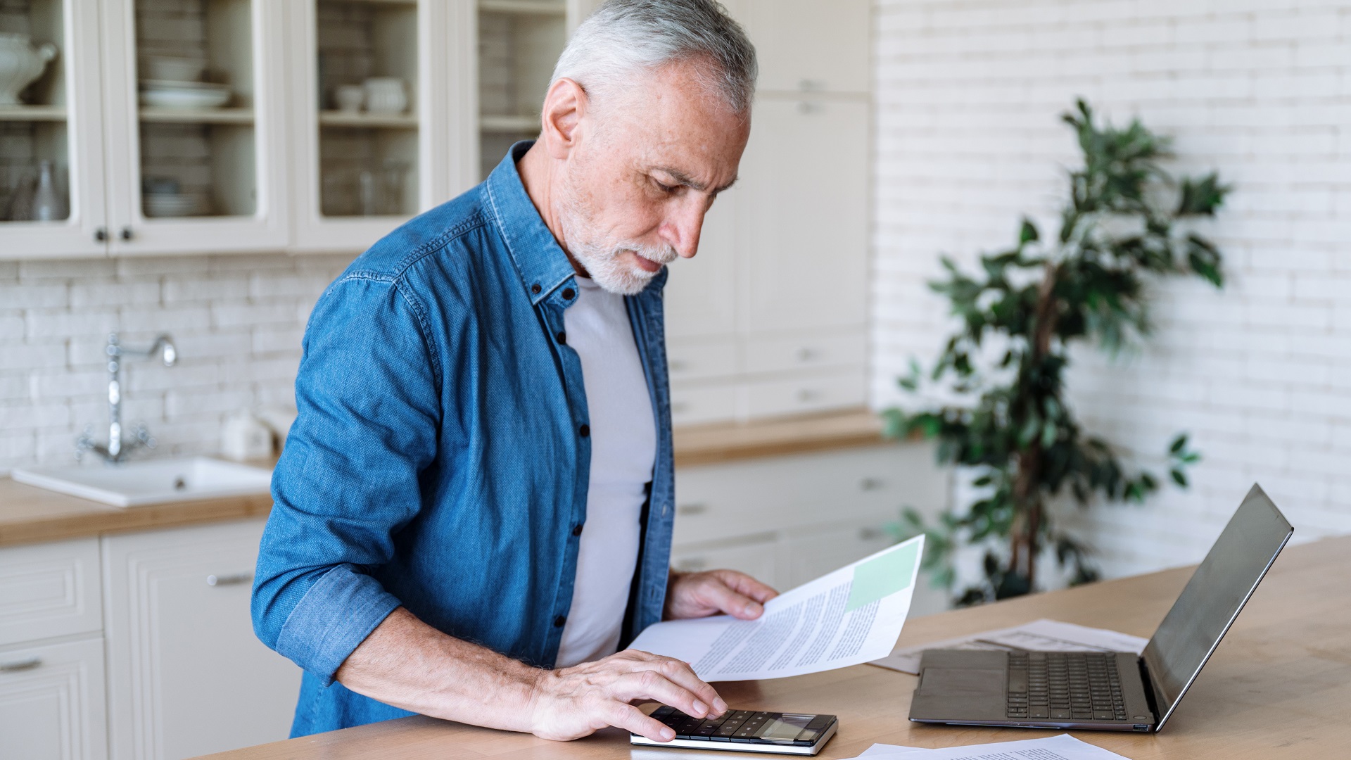
<instances>
[{"instance_id":1,"label":"light wooden kitchen countertop along the wall behind the man","mask_svg":"<svg viewBox=\"0 0 1351 760\"><path fill-rule=\"evenodd\" d=\"M677 467L882 442L881 423L867 410L677 427L674 438ZM0 479L0 546L266 517L270 510L267 495L122 508L4 477Z\"/></svg>"}]
</instances>

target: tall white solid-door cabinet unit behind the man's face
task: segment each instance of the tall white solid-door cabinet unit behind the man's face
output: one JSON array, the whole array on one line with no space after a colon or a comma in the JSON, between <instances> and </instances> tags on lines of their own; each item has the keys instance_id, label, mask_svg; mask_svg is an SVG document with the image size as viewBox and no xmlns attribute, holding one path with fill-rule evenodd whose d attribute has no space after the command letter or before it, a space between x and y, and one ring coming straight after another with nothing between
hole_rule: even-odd
<instances>
[{"instance_id":1,"label":"tall white solid-door cabinet unit behind the man's face","mask_svg":"<svg viewBox=\"0 0 1351 760\"><path fill-rule=\"evenodd\" d=\"M740 180L671 265L671 419L867 400L870 5L732 0L759 55ZM731 356L734 361L713 361Z\"/></svg>"}]
</instances>

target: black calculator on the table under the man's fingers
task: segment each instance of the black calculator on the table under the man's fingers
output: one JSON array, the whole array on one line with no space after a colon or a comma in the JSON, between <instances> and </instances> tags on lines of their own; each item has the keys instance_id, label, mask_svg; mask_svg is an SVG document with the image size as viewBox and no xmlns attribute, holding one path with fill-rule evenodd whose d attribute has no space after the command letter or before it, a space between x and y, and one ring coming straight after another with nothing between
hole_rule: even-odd
<instances>
[{"instance_id":1,"label":"black calculator on the table under the man's fingers","mask_svg":"<svg viewBox=\"0 0 1351 760\"><path fill-rule=\"evenodd\" d=\"M653 718L676 732L671 741L653 741L630 734L630 744L643 746L680 746L684 749L720 749L736 752L773 752L777 755L816 755L835 736L835 715L802 713L755 713L728 710L716 718L693 718L674 707L653 710Z\"/></svg>"}]
</instances>

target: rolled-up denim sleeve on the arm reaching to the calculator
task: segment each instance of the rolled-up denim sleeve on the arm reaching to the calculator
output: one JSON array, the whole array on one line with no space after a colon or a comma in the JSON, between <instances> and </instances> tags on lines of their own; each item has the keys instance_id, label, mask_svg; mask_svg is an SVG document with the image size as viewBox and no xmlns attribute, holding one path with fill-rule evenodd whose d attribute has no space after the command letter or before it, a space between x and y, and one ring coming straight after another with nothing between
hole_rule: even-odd
<instances>
[{"instance_id":1,"label":"rolled-up denim sleeve on the arm reaching to the calculator","mask_svg":"<svg viewBox=\"0 0 1351 760\"><path fill-rule=\"evenodd\" d=\"M369 569L390 560L422 508L440 421L435 356L426 312L388 277L345 275L311 315L253 623L326 684L400 604Z\"/></svg>"}]
</instances>

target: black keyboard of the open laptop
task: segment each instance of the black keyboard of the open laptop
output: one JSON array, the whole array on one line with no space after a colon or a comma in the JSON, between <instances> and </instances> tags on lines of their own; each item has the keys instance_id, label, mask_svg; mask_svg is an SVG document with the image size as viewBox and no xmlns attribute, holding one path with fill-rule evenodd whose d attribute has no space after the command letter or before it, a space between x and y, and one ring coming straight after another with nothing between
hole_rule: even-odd
<instances>
[{"instance_id":1,"label":"black keyboard of the open laptop","mask_svg":"<svg viewBox=\"0 0 1351 760\"><path fill-rule=\"evenodd\" d=\"M1011 652L1008 717L1052 721L1125 721L1116 655Z\"/></svg>"}]
</instances>

